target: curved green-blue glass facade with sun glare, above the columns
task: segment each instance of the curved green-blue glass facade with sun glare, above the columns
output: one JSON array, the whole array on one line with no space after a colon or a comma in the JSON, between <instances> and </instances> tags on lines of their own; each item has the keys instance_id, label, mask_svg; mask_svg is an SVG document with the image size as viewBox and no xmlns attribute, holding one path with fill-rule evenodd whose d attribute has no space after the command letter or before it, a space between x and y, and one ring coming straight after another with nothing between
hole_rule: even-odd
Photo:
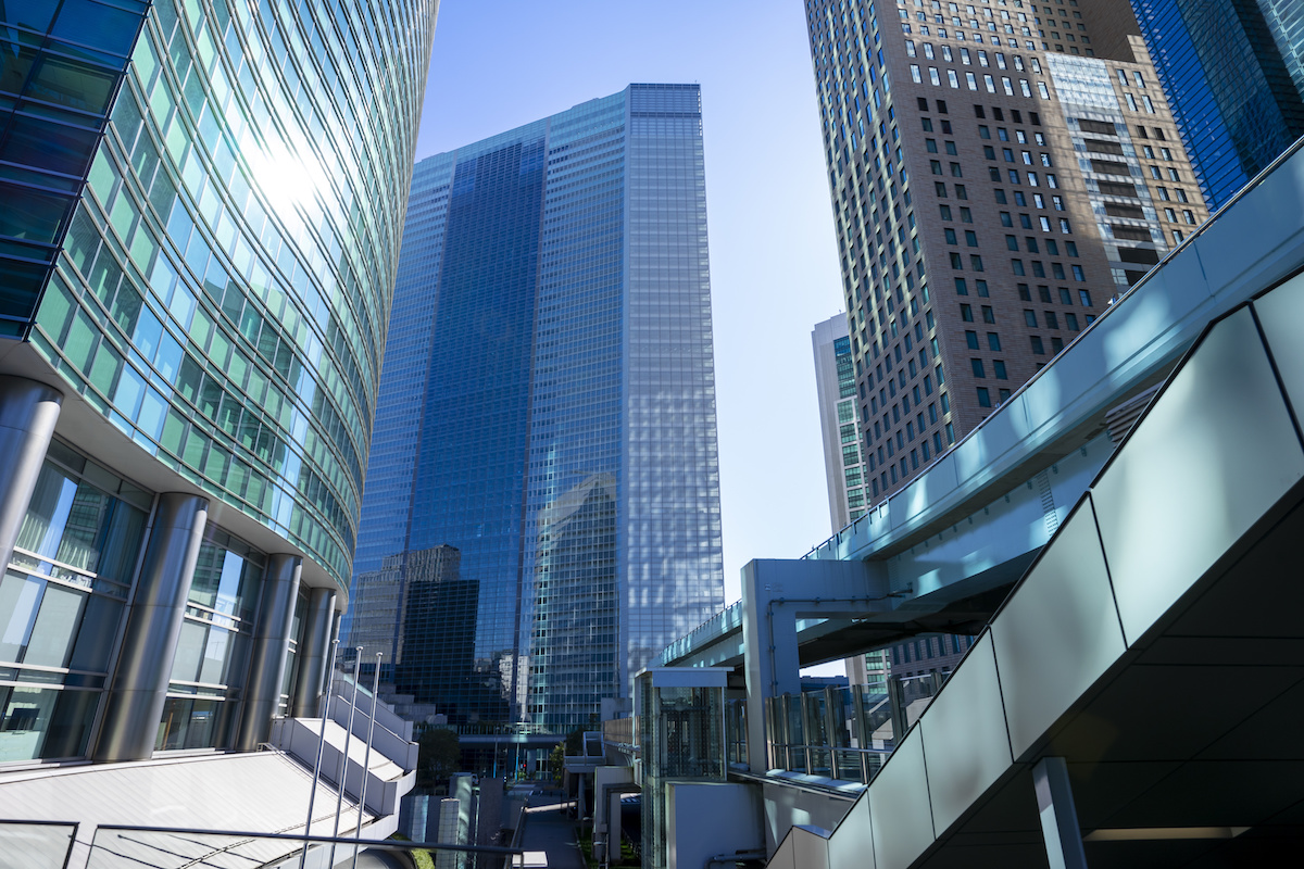
<instances>
[{"instance_id":1,"label":"curved green-blue glass facade with sun glare, above the columns","mask_svg":"<svg viewBox=\"0 0 1304 869\"><path fill-rule=\"evenodd\" d=\"M393 5L155 3L29 332L342 586L433 30Z\"/></svg>"}]
</instances>

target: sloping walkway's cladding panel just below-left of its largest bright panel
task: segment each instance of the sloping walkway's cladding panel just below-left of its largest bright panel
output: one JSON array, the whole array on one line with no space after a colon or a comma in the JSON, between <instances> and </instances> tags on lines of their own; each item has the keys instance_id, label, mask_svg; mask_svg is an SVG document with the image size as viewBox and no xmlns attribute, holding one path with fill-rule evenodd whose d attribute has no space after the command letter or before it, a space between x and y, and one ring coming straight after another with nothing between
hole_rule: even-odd
<instances>
[{"instance_id":1,"label":"sloping walkway's cladding panel just below-left of its largest bright panel","mask_svg":"<svg viewBox=\"0 0 1304 869\"><path fill-rule=\"evenodd\" d=\"M991 637L1018 758L1127 650L1090 496L1005 602Z\"/></svg>"}]
</instances>

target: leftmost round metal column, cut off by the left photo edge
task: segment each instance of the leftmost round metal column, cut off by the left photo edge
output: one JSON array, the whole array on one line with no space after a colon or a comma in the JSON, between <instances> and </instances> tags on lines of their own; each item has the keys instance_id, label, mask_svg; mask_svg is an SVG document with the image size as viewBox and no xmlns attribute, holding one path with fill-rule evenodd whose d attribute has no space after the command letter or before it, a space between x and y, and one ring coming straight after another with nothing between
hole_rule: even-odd
<instances>
[{"instance_id":1,"label":"leftmost round metal column, cut off by the left photo edge","mask_svg":"<svg viewBox=\"0 0 1304 869\"><path fill-rule=\"evenodd\" d=\"M0 567L13 558L63 401L44 383L0 377Z\"/></svg>"}]
</instances>

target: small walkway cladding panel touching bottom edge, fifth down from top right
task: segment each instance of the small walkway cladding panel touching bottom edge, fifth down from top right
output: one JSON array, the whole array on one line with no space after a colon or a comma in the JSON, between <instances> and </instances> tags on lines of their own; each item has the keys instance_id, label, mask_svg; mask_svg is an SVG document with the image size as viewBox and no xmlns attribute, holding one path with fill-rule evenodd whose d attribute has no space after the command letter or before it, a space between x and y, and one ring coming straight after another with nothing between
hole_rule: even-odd
<instances>
[{"instance_id":1,"label":"small walkway cladding panel touching bottom edge, fifth down from top right","mask_svg":"<svg viewBox=\"0 0 1304 869\"><path fill-rule=\"evenodd\" d=\"M909 866L936 838L919 728L908 732L892 752L868 793L874 865L882 869Z\"/></svg>"}]
</instances>

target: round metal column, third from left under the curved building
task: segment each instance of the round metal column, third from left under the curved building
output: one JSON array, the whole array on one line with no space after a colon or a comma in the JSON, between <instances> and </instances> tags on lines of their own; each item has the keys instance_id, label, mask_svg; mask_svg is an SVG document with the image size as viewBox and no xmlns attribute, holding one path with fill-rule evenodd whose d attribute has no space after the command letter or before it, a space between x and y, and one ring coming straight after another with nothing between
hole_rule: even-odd
<instances>
[{"instance_id":1,"label":"round metal column, third from left under the curved building","mask_svg":"<svg viewBox=\"0 0 1304 869\"><path fill-rule=\"evenodd\" d=\"M249 655L249 679L245 683L237 750L256 750L271 735L271 719L280 700L280 676L286 668L303 569L304 560L297 555L273 555L267 562L253 653Z\"/></svg>"}]
</instances>

